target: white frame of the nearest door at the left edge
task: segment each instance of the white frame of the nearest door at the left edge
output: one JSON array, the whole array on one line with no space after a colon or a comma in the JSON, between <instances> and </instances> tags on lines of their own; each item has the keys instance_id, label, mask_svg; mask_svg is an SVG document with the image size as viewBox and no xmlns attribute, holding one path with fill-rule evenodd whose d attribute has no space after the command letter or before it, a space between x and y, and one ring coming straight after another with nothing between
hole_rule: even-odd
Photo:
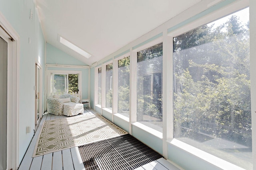
<instances>
[{"instance_id":1,"label":"white frame of the nearest door at the left edge","mask_svg":"<svg viewBox=\"0 0 256 170\"><path fill-rule=\"evenodd\" d=\"M0 12L0 25L11 38L7 72L7 169L18 169L20 36Z\"/></svg>"}]
</instances>

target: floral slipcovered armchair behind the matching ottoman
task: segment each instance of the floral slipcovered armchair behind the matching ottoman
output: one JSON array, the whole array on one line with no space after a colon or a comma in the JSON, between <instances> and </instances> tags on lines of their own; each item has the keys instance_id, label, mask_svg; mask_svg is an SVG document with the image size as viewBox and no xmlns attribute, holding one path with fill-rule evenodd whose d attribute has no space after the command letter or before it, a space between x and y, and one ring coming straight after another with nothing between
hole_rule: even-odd
<instances>
[{"instance_id":1,"label":"floral slipcovered armchair behind the matching ottoman","mask_svg":"<svg viewBox=\"0 0 256 170\"><path fill-rule=\"evenodd\" d=\"M47 99L47 111L54 115L63 115L64 102L79 103L80 98L71 96L70 94L63 94L61 96L51 96Z\"/></svg>"}]
</instances>

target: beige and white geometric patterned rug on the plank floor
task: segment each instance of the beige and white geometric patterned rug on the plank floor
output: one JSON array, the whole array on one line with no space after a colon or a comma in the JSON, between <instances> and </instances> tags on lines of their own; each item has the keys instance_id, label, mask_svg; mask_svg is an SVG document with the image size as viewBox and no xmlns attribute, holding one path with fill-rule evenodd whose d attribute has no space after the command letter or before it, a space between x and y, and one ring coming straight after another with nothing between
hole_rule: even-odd
<instances>
[{"instance_id":1,"label":"beige and white geometric patterned rug on the plank floor","mask_svg":"<svg viewBox=\"0 0 256 170\"><path fill-rule=\"evenodd\" d=\"M32 157L127 134L99 114L43 122Z\"/></svg>"}]
</instances>

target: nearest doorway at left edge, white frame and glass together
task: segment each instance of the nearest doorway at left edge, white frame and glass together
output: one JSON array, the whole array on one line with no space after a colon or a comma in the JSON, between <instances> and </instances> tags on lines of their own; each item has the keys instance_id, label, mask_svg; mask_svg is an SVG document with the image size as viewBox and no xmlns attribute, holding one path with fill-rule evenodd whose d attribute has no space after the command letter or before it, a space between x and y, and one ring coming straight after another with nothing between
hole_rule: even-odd
<instances>
[{"instance_id":1,"label":"nearest doorway at left edge, white frame and glass together","mask_svg":"<svg viewBox=\"0 0 256 170\"><path fill-rule=\"evenodd\" d=\"M0 12L0 170L18 169L20 37Z\"/></svg>"}]
</instances>

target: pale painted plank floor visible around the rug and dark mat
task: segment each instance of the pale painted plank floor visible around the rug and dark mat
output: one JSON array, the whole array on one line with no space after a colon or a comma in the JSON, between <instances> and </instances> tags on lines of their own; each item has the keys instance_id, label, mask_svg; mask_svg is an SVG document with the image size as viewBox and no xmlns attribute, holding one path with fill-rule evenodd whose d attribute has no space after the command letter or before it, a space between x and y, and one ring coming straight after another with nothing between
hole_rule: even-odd
<instances>
[{"instance_id":1,"label":"pale painted plank floor visible around the rug and dark mat","mask_svg":"<svg viewBox=\"0 0 256 170\"><path fill-rule=\"evenodd\" d=\"M76 116L91 115L93 113L93 110L84 108L84 113ZM32 158L34 148L36 146L36 140L38 138L44 120L60 119L64 117L67 116L56 116L48 113L44 114L18 170L85 170L78 147L65 149ZM150 162L137 169L178 170L178 168L170 164L170 162L168 162L164 158L160 158L156 161Z\"/></svg>"}]
</instances>

